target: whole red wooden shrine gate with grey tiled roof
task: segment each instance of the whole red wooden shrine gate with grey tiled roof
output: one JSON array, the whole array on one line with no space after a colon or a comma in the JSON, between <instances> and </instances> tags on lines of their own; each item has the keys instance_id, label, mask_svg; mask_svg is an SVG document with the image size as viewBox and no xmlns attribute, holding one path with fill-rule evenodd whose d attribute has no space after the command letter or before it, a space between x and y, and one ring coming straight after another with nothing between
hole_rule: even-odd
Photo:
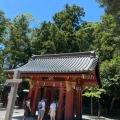
<instances>
[{"instance_id":1,"label":"whole red wooden shrine gate with grey tiled roof","mask_svg":"<svg viewBox=\"0 0 120 120\"><path fill-rule=\"evenodd\" d=\"M59 91L57 120L73 120L74 116L82 120L82 90L86 86L101 87L98 56L94 51L33 55L31 61L14 70L19 70L21 77L30 78L28 97L33 115L41 90L47 106L56 99L56 90ZM8 73L13 75L14 70Z\"/></svg>"}]
</instances>

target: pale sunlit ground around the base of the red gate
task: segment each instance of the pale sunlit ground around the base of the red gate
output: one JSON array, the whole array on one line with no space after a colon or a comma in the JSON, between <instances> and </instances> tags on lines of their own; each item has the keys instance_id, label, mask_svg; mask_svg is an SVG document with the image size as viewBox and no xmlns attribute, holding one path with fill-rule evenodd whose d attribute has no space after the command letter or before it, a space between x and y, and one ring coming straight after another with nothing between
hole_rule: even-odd
<instances>
[{"instance_id":1,"label":"pale sunlit ground around the base of the red gate","mask_svg":"<svg viewBox=\"0 0 120 120\"><path fill-rule=\"evenodd\" d=\"M23 109L14 109L12 120L22 120L23 119ZM0 109L0 120L5 120L5 109ZM89 116L89 115L83 115L83 120L119 120L119 119L109 119L105 117L98 118L97 116ZM37 120L35 118L27 118L26 120ZM46 120L46 119L44 119Z\"/></svg>"}]
</instances>

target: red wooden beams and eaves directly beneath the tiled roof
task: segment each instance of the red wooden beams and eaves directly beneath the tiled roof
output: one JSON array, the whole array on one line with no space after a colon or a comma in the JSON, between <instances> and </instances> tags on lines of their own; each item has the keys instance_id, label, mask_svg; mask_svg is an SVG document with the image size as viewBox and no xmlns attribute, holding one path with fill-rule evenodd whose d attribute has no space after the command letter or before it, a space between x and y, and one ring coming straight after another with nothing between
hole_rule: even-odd
<instances>
[{"instance_id":1,"label":"red wooden beams and eaves directly beneath the tiled roof","mask_svg":"<svg viewBox=\"0 0 120 120\"><path fill-rule=\"evenodd\" d=\"M10 74L12 75L12 74ZM95 83L95 84L98 84L97 83L97 79L96 79L96 76L95 74L91 73L88 75L87 78L83 78L83 74L54 74L54 73L51 73L51 74L30 74L30 73L26 73L26 74L21 74L21 76L27 76L27 77L30 77L30 78L33 78L32 80L33 81L42 81L42 79L46 78L46 81L50 81L48 80L49 78L53 78L55 83L56 81L60 81L63 82L63 81L71 81L71 82L77 82L78 81L78 85L81 85L83 83ZM74 78L74 79L69 79L69 78ZM46 82L45 82L46 83ZM57 87L59 87L59 83L56 84ZM40 83L41 86L44 86L43 83ZM49 86L47 83L46 83L46 86ZM50 86L52 87L53 86L53 83L50 83Z\"/></svg>"}]
</instances>

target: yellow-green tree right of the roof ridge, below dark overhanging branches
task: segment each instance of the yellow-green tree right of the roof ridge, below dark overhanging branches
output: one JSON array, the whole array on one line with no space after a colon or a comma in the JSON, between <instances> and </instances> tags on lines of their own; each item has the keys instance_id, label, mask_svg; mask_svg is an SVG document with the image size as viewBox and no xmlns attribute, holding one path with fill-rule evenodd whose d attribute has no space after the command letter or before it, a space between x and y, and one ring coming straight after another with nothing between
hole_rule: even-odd
<instances>
[{"instance_id":1,"label":"yellow-green tree right of the roof ridge, below dark overhanging branches","mask_svg":"<svg viewBox=\"0 0 120 120\"><path fill-rule=\"evenodd\" d=\"M114 57L116 50L116 41L114 30L116 29L116 22L112 15L104 15L102 23L98 23L94 31L94 47L99 48L100 60L110 60Z\"/></svg>"}]
</instances>

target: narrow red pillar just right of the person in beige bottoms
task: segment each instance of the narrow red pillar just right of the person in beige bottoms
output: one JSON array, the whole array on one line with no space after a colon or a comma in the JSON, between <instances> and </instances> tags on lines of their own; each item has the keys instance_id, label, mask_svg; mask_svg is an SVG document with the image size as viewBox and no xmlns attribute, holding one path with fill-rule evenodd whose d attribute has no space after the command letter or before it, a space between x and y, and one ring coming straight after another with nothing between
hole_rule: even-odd
<instances>
[{"instance_id":1,"label":"narrow red pillar just right of the person in beige bottoms","mask_svg":"<svg viewBox=\"0 0 120 120\"><path fill-rule=\"evenodd\" d=\"M57 120L62 119L63 96L64 96L64 88L60 88L60 90L59 90L59 100L58 100L58 110L57 110Z\"/></svg>"}]
</instances>

